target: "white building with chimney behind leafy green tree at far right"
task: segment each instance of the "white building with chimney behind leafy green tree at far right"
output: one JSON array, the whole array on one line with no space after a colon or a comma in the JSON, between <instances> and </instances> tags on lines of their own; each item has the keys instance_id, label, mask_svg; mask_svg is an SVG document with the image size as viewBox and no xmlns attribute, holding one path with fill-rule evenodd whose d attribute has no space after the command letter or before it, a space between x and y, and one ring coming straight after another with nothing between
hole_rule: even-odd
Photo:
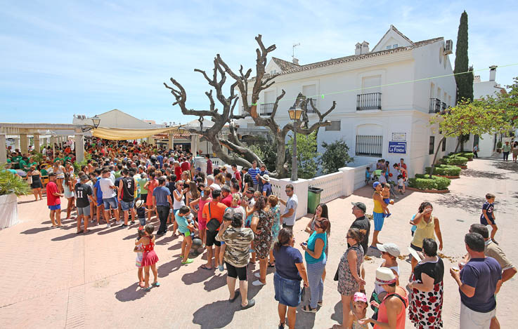
<instances>
[{"instance_id":1,"label":"white building with chimney behind leafy green tree at far right","mask_svg":"<svg viewBox=\"0 0 518 329\"><path fill-rule=\"evenodd\" d=\"M496 83L496 65L489 67L489 80L481 81L480 76L474 76L473 79L473 98L479 100L488 96L495 96L496 93L506 93L505 88L500 87L500 83ZM464 144L465 149L472 149L474 145L479 145L479 156L488 157L496 151L496 142L501 138L500 134L484 134L481 137L470 135L470 140Z\"/></svg>"}]
</instances>

